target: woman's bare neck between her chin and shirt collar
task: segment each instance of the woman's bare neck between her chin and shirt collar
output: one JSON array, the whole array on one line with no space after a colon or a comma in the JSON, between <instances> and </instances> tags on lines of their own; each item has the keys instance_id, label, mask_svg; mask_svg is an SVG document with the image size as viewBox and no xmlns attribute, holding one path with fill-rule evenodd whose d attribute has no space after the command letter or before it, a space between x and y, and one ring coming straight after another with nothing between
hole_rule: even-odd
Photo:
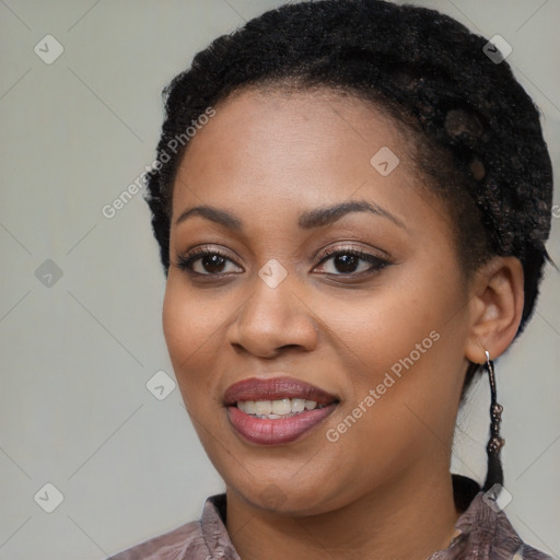
<instances>
[{"instance_id":1,"label":"woman's bare neck between her chin and shirt collar","mask_svg":"<svg viewBox=\"0 0 560 560\"><path fill-rule=\"evenodd\" d=\"M374 492L327 513L266 512L228 489L228 533L243 560L425 560L447 548L460 515L448 472Z\"/></svg>"}]
</instances>

